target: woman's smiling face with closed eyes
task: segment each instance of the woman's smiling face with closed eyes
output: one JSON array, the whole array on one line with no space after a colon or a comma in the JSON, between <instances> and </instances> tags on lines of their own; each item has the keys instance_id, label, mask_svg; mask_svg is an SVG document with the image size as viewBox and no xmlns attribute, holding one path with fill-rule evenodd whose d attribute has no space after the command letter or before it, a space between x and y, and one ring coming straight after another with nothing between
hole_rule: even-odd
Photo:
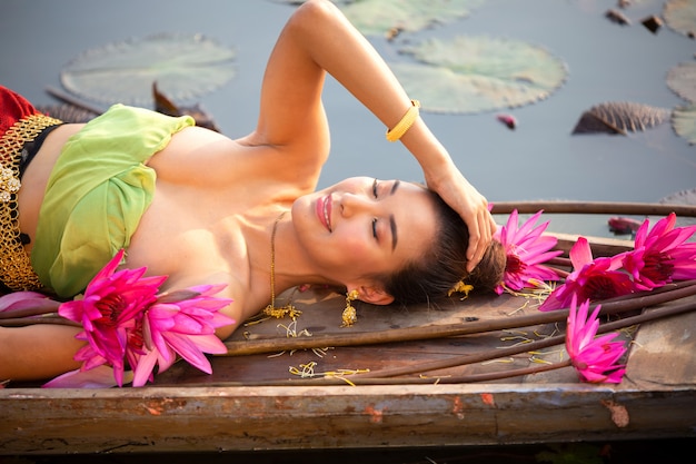
<instances>
[{"instance_id":1,"label":"woman's smiling face with closed eyes","mask_svg":"<svg viewBox=\"0 0 696 464\"><path fill-rule=\"evenodd\" d=\"M317 270L344 285L419 259L436 233L432 200L424 187L369 177L298 198L292 223Z\"/></svg>"}]
</instances>

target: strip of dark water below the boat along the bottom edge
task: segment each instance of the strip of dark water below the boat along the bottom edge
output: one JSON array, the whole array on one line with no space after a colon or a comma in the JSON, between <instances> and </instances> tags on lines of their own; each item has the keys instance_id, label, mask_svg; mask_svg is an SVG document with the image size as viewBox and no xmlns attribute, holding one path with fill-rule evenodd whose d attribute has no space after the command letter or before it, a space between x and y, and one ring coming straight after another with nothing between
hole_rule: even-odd
<instances>
[{"instance_id":1,"label":"strip of dark water below the boat along the bottom edge","mask_svg":"<svg viewBox=\"0 0 696 464\"><path fill-rule=\"evenodd\" d=\"M694 462L693 445L688 440L658 440L429 450L0 456L0 464L682 464Z\"/></svg>"}]
</instances>

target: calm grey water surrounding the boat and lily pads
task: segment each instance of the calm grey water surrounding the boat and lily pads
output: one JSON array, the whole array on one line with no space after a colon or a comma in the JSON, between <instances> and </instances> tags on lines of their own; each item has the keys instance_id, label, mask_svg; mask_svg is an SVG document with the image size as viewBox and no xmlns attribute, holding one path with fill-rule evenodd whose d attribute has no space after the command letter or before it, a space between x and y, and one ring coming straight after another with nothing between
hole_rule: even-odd
<instances>
[{"instance_id":1,"label":"calm grey water surrounding the boat and lily pads","mask_svg":"<svg viewBox=\"0 0 696 464\"><path fill-rule=\"evenodd\" d=\"M513 112L519 126L508 130L495 112L425 115L434 132L450 150L465 175L493 201L569 199L657 201L696 187L696 147L678 138L669 125L622 136L571 136L583 111L606 101L633 101L663 108L685 102L665 83L667 71L693 61L696 41L668 28L657 34L640 19L659 14L662 1L634 1L625 13L630 26L608 21L604 12L615 0L489 0L469 18L414 37L457 33L525 40L547 48L567 62L569 77L545 101ZM3 0L0 14L0 83L37 105L56 103L44 92L60 87L61 68L92 47L157 32L203 33L238 52L237 77L199 101L222 131L236 137L252 129L264 67L276 37L292 7L269 0ZM375 46L387 58L395 55L381 38ZM418 96L412 96L418 98ZM332 127L334 156L321 186L345 177L421 178L417 164L398 144L384 139L385 128L336 82L325 92ZM551 221L558 231L606 234L606 219L563 218ZM685 441L593 444L604 452L600 462L684 462L670 456ZM608 448L607 448L608 446ZM496 447L431 452L331 452L211 456L159 456L178 462L205 458L287 462L537 462L533 447ZM606 454L613 451L614 454ZM471 453L471 454L468 454ZM84 456L82 456L84 457ZM140 462L131 456L129 462ZM4 464L9 458L0 457ZM82 460L87 462L86 460ZM82 462L79 456L51 462ZM93 461L93 456L90 456ZM19 462L46 462L30 457ZM126 462L101 456L99 462ZM570 462L570 461L568 461ZM594 461L586 461L594 462Z\"/></svg>"}]
</instances>

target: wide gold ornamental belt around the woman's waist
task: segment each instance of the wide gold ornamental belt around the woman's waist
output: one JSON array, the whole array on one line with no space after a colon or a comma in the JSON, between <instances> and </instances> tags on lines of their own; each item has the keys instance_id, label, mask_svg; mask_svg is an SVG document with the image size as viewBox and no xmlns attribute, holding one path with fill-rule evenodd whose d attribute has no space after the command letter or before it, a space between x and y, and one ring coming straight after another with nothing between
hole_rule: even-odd
<instances>
[{"instance_id":1,"label":"wide gold ornamental belt around the woman's waist","mask_svg":"<svg viewBox=\"0 0 696 464\"><path fill-rule=\"evenodd\" d=\"M21 187L22 148L47 127L61 122L49 116L32 115L17 121L0 138L0 280L16 292L42 287L20 239L17 192Z\"/></svg>"}]
</instances>

